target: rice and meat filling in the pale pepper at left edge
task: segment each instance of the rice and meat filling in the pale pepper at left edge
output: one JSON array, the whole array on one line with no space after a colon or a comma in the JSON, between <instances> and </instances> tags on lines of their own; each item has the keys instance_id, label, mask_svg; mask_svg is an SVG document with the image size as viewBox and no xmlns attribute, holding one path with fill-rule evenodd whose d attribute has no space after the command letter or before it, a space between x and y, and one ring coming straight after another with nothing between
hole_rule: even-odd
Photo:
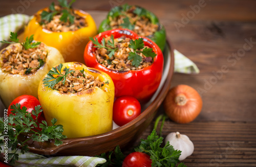
<instances>
[{"instance_id":1,"label":"rice and meat filling in the pale pepper at left edge","mask_svg":"<svg viewBox=\"0 0 256 167\"><path fill-rule=\"evenodd\" d=\"M44 43L25 50L20 43L7 47L0 53L2 71L11 74L26 75L35 73L44 65L48 51Z\"/></svg>"}]
</instances>

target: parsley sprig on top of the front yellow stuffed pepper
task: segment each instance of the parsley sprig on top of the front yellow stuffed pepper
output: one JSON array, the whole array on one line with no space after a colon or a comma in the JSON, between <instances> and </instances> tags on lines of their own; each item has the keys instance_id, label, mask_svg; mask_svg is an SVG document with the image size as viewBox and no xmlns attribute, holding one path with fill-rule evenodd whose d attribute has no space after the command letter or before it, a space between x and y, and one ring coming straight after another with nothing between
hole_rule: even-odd
<instances>
[{"instance_id":1,"label":"parsley sprig on top of the front yellow stuffed pepper","mask_svg":"<svg viewBox=\"0 0 256 167\"><path fill-rule=\"evenodd\" d=\"M53 67L48 73L47 76L42 80L44 81L44 84L46 87L49 87L51 89L54 88L58 82L62 81L62 84L65 84L66 77L68 74L74 72L74 70L70 70L69 68L65 67L63 71L65 71L65 74L61 73L61 69L63 67L63 64L59 64L57 67ZM54 77L53 75L57 75L57 77Z\"/></svg>"}]
</instances>

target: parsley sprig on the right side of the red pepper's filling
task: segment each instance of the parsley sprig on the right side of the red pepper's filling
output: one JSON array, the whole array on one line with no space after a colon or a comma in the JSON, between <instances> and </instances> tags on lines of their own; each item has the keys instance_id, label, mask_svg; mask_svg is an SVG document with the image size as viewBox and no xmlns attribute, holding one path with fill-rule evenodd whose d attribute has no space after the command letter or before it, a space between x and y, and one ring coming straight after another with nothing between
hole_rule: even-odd
<instances>
[{"instance_id":1,"label":"parsley sprig on the right side of the red pepper's filling","mask_svg":"<svg viewBox=\"0 0 256 167\"><path fill-rule=\"evenodd\" d=\"M136 40L131 40L130 41L130 48L134 49L134 51L129 53L128 56L128 60L132 60L132 65L135 67L139 67L140 62L142 61L142 57L139 55L139 53L142 53L145 55L145 57L151 57L151 58L155 58L156 57L156 53L153 52L152 48L144 48L144 42L143 42L143 38L139 38ZM140 51L140 49L143 49L142 51Z\"/></svg>"}]
</instances>

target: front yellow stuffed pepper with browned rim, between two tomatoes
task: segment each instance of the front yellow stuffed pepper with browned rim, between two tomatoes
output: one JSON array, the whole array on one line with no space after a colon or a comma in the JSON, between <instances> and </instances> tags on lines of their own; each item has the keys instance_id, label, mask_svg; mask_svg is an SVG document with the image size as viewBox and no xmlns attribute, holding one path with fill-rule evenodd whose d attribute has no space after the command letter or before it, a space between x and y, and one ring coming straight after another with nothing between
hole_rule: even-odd
<instances>
[{"instance_id":1,"label":"front yellow stuffed pepper with browned rim, between two tomatoes","mask_svg":"<svg viewBox=\"0 0 256 167\"><path fill-rule=\"evenodd\" d=\"M69 62L41 79L38 99L48 124L56 118L63 134L82 137L112 130L114 90L108 74Z\"/></svg>"}]
</instances>

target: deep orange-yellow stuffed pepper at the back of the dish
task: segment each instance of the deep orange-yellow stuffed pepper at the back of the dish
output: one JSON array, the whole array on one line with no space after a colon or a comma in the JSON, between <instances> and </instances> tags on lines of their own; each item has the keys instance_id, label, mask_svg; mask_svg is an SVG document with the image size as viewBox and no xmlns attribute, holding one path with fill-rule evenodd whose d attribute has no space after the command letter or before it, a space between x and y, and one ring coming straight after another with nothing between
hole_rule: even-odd
<instances>
[{"instance_id":1,"label":"deep orange-yellow stuffed pepper at the back of the dish","mask_svg":"<svg viewBox=\"0 0 256 167\"><path fill-rule=\"evenodd\" d=\"M25 27L24 36L32 34L35 40L57 48L65 62L83 63L84 48L89 37L97 34L97 27L89 13L72 9L67 2L58 6L52 3L39 10Z\"/></svg>"}]
</instances>

